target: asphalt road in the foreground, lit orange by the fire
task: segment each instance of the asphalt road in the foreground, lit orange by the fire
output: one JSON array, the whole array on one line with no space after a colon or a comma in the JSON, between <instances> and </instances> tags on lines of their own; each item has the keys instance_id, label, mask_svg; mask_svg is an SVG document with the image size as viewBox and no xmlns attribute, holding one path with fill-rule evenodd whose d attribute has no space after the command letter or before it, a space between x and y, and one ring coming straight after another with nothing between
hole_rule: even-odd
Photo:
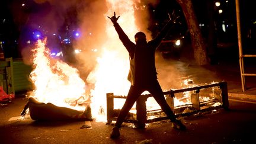
<instances>
[{"instance_id":1,"label":"asphalt road in the foreground, lit orange by the fire","mask_svg":"<svg viewBox=\"0 0 256 144\"><path fill-rule=\"evenodd\" d=\"M26 98L0 107L0 143L256 143L256 104L230 100L230 110L207 111L183 117L187 130L171 128L169 121L137 130L124 124L119 139L109 135L113 126L91 121L92 129L81 129L85 121L9 121L18 117Z\"/></svg>"}]
</instances>

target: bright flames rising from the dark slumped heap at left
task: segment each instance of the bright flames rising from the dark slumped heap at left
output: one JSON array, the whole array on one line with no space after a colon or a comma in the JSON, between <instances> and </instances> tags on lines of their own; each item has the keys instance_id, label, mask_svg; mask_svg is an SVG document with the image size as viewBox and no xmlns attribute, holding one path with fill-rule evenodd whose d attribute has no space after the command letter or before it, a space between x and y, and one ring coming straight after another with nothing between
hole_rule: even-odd
<instances>
[{"instance_id":1,"label":"bright flames rising from the dark slumped heap at left","mask_svg":"<svg viewBox=\"0 0 256 144\"><path fill-rule=\"evenodd\" d=\"M34 69L30 73L30 79L35 88L30 97L35 97L42 103L69 107L66 101L85 97L85 82L79 77L77 69L52 59L50 50L45 45L46 39L38 40L32 50Z\"/></svg>"}]
</instances>

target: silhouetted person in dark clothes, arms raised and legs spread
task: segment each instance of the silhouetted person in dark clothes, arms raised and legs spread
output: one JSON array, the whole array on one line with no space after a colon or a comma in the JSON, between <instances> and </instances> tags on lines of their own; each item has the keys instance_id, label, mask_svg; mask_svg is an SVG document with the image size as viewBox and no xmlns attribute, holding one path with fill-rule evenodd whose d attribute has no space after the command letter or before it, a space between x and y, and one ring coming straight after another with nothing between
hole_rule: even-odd
<instances>
[{"instance_id":1,"label":"silhouetted person in dark clothes, arms raised and legs spread","mask_svg":"<svg viewBox=\"0 0 256 144\"><path fill-rule=\"evenodd\" d=\"M162 110L172 121L172 127L184 130L185 126L181 123L180 120L175 119L174 113L165 100L162 88L160 87L157 80L157 73L155 68L155 50L161 43L162 39L167 35L168 30L172 27L172 24L175 23L177 17L169 20L168 24L165 25L161 33L159 33L158 36L156 36L155 39L151 41L146 41L145 33L136 33L136 44L130 41L130 39L121 29L120 25L117 23L119 17L116 17L116 12L114 12L114 16L108 18L110 18L114 24L117 34L119 35L119 39L129 52L130 71L128 80L131 82L131 86L127 95L127 99L123 105L123 108L121 108L110 137L117 138L120 136L119 129L123 123L123 120L129 113L135 101L144 91L148 91L152 94L153 98L155 98L156 102L161 106Z\"/></svg>"}]
</instances>

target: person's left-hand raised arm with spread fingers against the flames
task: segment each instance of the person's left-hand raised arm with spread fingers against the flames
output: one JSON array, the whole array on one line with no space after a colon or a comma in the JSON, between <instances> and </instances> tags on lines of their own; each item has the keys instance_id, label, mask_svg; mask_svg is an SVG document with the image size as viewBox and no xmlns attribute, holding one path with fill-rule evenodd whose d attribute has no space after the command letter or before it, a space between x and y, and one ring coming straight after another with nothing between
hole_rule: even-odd
<instances>
[{"instance_id":1,"label":"person's left-hand raised arm with spread fingers against the flames","mask_svg":"<svg viewBox=\"0 0 256 144\"><path fill-rule=\"evenodd\" d=\"M119 19L119 17L116 17L116 12L114 12L114 15L112 17L108 17L108 18L110 18L110 20L114 24L114 27L115 27L115 29L117 31L117 34L119 35L119 39L123 43L124 47L126 47L128 52L131 53L133 51L133 47L135 47L135 43L130 41L130 39L128 38L126 33L124 33L123 29L117 23L117 20Z\"/></svg>"}]
</instances>

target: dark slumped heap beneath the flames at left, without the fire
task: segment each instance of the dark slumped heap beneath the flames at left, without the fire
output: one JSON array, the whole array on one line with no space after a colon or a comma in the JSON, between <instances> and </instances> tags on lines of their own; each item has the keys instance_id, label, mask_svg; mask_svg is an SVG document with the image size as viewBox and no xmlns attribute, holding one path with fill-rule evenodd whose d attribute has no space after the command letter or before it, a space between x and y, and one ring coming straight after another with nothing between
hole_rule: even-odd
<instances>
[{"instance_id":1,"label":"dark slumped heap beneath the flames at left, without the fire","mask_svg":"<svg viewBox=\"0 0 256 144\"><path fill-rule=\"evenodd\" d=\"M23 112L27 108L29 108L30 117L33 120L92 120L89 106L85 108L85 111L78 111L66 107L57 107L52 103L41 103L30 97Z\"/></svg>"}]
</instances>

